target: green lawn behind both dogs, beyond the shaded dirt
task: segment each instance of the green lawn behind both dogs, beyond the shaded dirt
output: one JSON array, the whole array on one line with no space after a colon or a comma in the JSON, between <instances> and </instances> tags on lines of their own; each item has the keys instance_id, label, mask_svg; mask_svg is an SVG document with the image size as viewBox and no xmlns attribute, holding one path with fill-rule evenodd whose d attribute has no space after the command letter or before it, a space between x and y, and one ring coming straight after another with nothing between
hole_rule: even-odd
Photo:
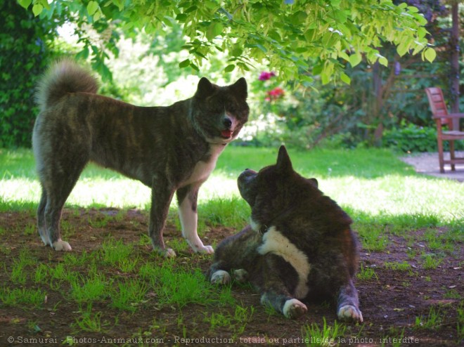
<instances>
[{"instance_id":1,"label":"green lawn behind both dogs, beyond the shaded dirt","mask_svg":"<svg viewBox=\"0 0 464 347\"><path fill-rule=\"evenodd\" d=\"M247 215L236 185L243 169L261 169L276 162L277 149L229 147L219 157L217 168L200 189L202 209L213 223L228 221L231 213ZM354 217L394 218L401 223L430 225L464 218L464 185L415 174L389 150L290 150L295 169L316 177L319 188L333 197ZM30 150L0 150L0 211L34 210L40 187ZM210 206L212 201L218 201ZM82 173L67 205L82 207L146 208L150 189L138 181L90 164ZM226 205L226 206L221 206ZM175 209L175 204L173 203ZM219 217L218 217L219 216ZM405 219L402 221L402 219ZM105 223L105 221L95 221ZM236 221L230 223L236 224Z\"/></svg>"}]
</instances>

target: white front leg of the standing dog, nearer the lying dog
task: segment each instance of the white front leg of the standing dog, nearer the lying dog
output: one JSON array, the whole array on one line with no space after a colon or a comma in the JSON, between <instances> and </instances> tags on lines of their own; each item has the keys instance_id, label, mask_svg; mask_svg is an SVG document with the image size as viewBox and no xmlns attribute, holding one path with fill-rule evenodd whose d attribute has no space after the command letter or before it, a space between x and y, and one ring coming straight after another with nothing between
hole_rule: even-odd
<instances>
[{"instance_id":1,"label":"white front leg of the standing dog, nearer the lying dog","mask_svg":"<svg viewBox=\"0 0 464 347\"><path fill-rule=\"evenodd\" d=\"M200 184L191 184L177 190L177 202L179 203L179 218L181 219L182 235L195 252L213 254L211 246L203 245L198 237L197 199Z\"/></svg>"}]
</instances>

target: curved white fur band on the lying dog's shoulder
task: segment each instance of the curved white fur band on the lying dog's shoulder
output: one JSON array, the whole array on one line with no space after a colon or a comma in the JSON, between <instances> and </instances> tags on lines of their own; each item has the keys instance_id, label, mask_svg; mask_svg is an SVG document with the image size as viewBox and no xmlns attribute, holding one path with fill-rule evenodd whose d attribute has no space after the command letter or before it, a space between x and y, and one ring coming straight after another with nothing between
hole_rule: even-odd
<instances>
[{"instance_id":1,"label":"curved white fur band on the lying dog's shoulder","mask_svg":"<svg viewBox=\"0 0 464 347\"><path fill-rule=\"evenodd\" d=\"M308 257L301 250L297 249L287 237L282 235L275 227L269 228L263 235L263 244L257 249L259 254L272 253L281 256L290 263L298 274L298 284L295 289L295 297L303 299L309 291L307 280L311 264Z\"/></svg>"}]
</instances>

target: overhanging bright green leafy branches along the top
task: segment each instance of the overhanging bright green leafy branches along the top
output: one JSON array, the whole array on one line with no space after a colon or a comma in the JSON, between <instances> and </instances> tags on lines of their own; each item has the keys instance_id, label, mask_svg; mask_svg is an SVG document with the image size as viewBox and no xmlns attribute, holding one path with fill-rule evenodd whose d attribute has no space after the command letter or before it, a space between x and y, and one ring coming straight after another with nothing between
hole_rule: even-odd
<instances>
[{"instance_id":1,"label":"overhanging bright green leafy branches along the top","mask_svg":"<svg viewBox=\"0 0 464 347\"><path fill-rule=\"evenodd\" d=\"M323 83L337 79L349 83L344 68L348 63L359 64L363 55L369 63L378 60L387 65L387 58L378 51L386 41L396 46L399 55L420 53L429 61L435 57L425 37L427 20L417 8L406 3L395 6L391 0L18 2L41 20L50 20L56 11L66 8L75 14L77 27L88 22L98 32L111 22L125 33L145 30L160 34L179 22L187 37L183 48L190 53L179 66L194 69L217 51L227 51L226 72L269 62L283 80L304 82L320 75ZM82 41L84 53L103 62L105 54ZM112 46L110 40L106 46Z\"/></svg>"}]
</instances>

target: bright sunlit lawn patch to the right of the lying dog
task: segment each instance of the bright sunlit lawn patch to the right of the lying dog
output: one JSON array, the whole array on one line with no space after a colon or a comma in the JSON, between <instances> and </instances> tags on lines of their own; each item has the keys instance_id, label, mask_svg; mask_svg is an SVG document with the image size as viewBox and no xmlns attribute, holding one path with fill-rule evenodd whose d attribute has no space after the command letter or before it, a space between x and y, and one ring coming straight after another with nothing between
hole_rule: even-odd
<instances>
[{"instance_id":1,"label":"bright sunlit lawn patch to the right of the lying dog","mask_svg":"<svg viewBox=\"0 0 464 347\"><path fill-rule=\"evenodd\" d=\"M342 207L373 216L435 215L444 221L464 218L464 185L418 176L328 178L319 188Z\"/></svg>"}]
</instances>

